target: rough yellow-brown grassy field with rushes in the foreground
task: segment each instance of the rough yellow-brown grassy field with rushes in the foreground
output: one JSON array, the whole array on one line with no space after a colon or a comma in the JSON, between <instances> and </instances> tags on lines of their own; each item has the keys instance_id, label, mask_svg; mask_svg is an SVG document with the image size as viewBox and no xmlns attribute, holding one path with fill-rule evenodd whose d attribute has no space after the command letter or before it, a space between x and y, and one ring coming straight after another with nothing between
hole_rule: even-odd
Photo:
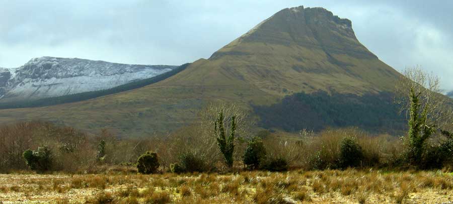
<instances>
[{"instance_id":1,"label":"rough yellow-brown grassy field with rushes in the foreground","mask_svg":"<svg viewBox=\"0 0 453 204\"><path fill-rule=\"evenodd\" d=\"M453 174L324 170L227 174L0 174L3 203L442 203Z\"/></svg>"}]
</instances>

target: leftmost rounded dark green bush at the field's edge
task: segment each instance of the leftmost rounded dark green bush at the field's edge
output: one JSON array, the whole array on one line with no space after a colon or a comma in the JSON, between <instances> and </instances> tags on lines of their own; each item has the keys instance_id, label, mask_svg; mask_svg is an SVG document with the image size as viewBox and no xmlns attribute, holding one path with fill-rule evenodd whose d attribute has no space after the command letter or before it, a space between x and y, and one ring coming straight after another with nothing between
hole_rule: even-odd
<instances>
[{"instance_id":1,"label":"leftmost rounded dark green bush at the field's edge","mask_svg":"<svg viewBox=\"0 0 453 204\"><path fill-rule=\"evenodd\" d=\"M36 151L28 149L22 155L31 170L47 171L52 167L52 152L47 146L38 147Z\"/></svg>"}]
</instances>

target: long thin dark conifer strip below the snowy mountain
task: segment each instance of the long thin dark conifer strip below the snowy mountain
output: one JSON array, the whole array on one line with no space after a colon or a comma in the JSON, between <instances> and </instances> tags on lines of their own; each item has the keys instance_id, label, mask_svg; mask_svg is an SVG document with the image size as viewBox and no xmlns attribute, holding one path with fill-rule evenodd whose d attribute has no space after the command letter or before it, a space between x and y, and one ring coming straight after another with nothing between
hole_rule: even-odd
<instances>
[{"instance_id":1,"label":"long thin dark conifer strip below the snowy mountain","mask_svg":"<svg viewBox=\"0 0 453 204\"><path fill-rule=\"evenodd\" d=\"M33 108L33 107L52 106L52 105L58 105L58 104L73 103L73 102L77 102L77 101L101 97L104 95L119 93L122 91L140 88L140 87L143 87L143 86L146 86L149 84L153 84L153 83L162 81L168 77L171 77L171 76L181 72L182 70L186 69L189 65L190 65L189 63L186 63L171 71L165 72L163 74L160 74L160 75L157 75L157 76L154 76L151 78L147 78L147 79L142 79L142 80L126 83L126 84L119 85L119 86L105 89L105 90L75 93L75 94L70 94L70 95L42 98L42 99L31 100L31 101L28 100L28 101L14 102L14 103L4 103L4 104L0 104L0 109L17 109L17 108Z\"/></svg>"}]
</instances>

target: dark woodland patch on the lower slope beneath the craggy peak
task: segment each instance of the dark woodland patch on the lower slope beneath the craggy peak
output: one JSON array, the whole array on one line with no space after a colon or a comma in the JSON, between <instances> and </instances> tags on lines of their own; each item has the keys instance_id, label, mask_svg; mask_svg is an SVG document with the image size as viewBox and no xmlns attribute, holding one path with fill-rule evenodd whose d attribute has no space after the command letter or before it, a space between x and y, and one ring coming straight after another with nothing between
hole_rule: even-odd
<instances>
[{"instance_id":1,"label":"dark woodland patch on the lower slope beneath the craggy peak","mask_svg":"<svg viewBox=\"0 0 453 204\"><path fill-rule=\"evenodd\" d=\"M289 132L359 127L371 132L401 134L407 129L400 105L394 104L394 94L388 92L361 96L335 91L330 94L325 91L294 93L278 104L254 106L253 109L260 117L260 127Z\"/></svg>"}]
</instances>

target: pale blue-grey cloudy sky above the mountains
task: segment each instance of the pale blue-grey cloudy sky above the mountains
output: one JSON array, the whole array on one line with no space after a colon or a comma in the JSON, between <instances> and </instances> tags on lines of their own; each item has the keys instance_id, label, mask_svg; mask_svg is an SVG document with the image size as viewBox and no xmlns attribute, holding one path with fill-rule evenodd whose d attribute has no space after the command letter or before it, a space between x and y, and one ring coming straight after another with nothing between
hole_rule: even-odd
<instances>
[{"instance_id":1,"label":"pale blue-grey cloudy sky above the mountains","mask_svg":"<svg viewBox=\"0 0 453 204\"><path fill-rule=\"evenodd\" d=\"M420 65L453 89L453 1L440 0L0 0L0 67L40 56L179 65L301 5L350 19L381 60L397 70Z\"/></svg>"}]
</instances>

